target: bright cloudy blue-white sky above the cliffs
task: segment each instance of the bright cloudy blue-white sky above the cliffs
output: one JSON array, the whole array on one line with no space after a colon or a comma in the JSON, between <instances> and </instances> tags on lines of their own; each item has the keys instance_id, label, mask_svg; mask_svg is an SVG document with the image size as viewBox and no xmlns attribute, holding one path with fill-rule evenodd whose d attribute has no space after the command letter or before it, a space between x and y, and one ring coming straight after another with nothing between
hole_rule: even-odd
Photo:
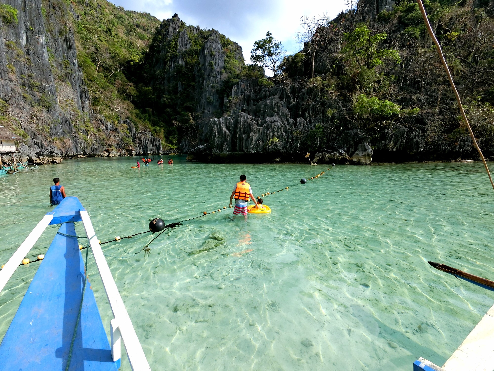
<instances>
[{"instance_id":1,"label":"bright cloudy blue-white sky above the cliffs","mask_svg":"<svg viewBox=\"0 0 494 371\"><path fill-rule=\"evenodd\" d=\"M254 42L270 31L288 54L301 49L296 34L300 17L328 13L330 19L346 9L345 0L111 0L127 10L146 11L160 20L177 13L189 25L221 32L242 46L246 63Z\"/></svg>"}]
</instances>

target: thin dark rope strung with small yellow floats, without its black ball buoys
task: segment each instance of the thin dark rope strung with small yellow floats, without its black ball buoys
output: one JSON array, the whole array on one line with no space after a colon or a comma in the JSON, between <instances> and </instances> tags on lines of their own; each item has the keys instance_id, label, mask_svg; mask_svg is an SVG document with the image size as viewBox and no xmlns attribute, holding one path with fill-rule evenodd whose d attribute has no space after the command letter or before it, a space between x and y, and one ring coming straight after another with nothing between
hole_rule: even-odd
<instances>
[{"instance_id":1,"label":"thin dark rope strung with small yellow floats, without its black ball buoys","mask_svg":"<svg viewBox=\"0 0 494 371\"><path fill-rule=\"evenodd\" d=\"M328 170L331 170L331 169L330 169L330 168L328 168ZM323 171L323 172L321 172L321 173L319 173L319 174L317 174L317 175L315 175L315 176L313 176L313 177L311 177L311 178L307 178L307 179L306 179L306 181L308 182L308 181L311 181L311 180L316 180L317 178L319 178L319 177L323 176L325 173L326 173L326 172L325 172L325 171ZM294 185L290 185L290 186L285 187L285 188L282 188L282 189L280 189L280 190L275 190L275 191L273 191L273 192L265 192L265 193L262 193L262 195L261 195L261 196L259 196L259 197L257 197L257 198L259 199L259 198L261 198L261 197L266 197L266 196L269 196L269 195L273 195L273 194L278 193L278 192L281 192L281 191L283 191L283 190L289 190L289 188L291 188L291 187L293 187L293 186L295 186L295 185L299 185L299 184L302 184L302 183L296 183L296 184L294 184ZM232 208L232 207L233 207L233 206L230 206L230 208ZM146 245L144 245L144 247L143 247L142 249L140 249L140 250L139 250L139 251L137 251L137 252L127 252L125 248L119 248L118 250L124 250L124 253L125 253L125 254L127 254L127 255L136 255L136 254L138 254L138 253L140 253L140 252L142 252L142 251L144 251L144 254L145 254L145 255L146 255L146 254L150 254L151 249L149 248L149 245L150 245L151 243L153 243L153 242L154 242L154 240L156 240L159 236L161 236L161 234L162 234L162 233L166 232L166 233L167 233L167 235L169 235L171 231L173 231L174 229L176 229L176 228L178 228L178 227L182 226L182 224L183 224L183 223L185 223L185 222L189 222L189 221L194 220L194 219L199 219L199 218L205 217L206 215L209 215L209 214L215 214L215 213L217 213L217 212L221 212L222 210L226 210L226 209L227 209L227 207L226 207L226 206L223 206L223 208L220 208L220 209L217 209L217 210L214 210L214 211L210 211L210 212L204 211L202 215L199 215L199 216L197 216L197 217L193 217L193 218L189 218L189 219L184 219L184 220L182 220L182 221L180 221L180 222L174 222L174 223L167 224L167 225L165 226L165 229L164 229L163 231L159 232L159 233L158 233L158 235L156 235L156 236L155 236L155 237L154 237L151 241L149 241ZM110 242L120 241L121 239L124 239L124 238L132 238L132 237L137 236L137 235L139 235L139 234L144 234L144 233L149 233L149 232L152 232L152 231L145 231L145 232L134 233L134 234L131 234L131 235L128 235L128 236L125 236L125 237L120 237L120 236L117 236L117 237L115 237L114 239L111 239L111 240L108 240L108 241L104 241L104 242L101 242L101 241L99 241L99 240L98 240L98 243L99 243L100 245L104 245L105 243L110 243ZM72 234L65 234L65 233L62 233L62 232L57 232L57 233L58 233L58 234L61 234L61 235L63 235L63 236L66 236L66 237L74 237L74 238L78 238L78 239L79 239L79 238L87 238L87 237L84 237L84 236L78 236L78 235L72 235ZM83 246L83 245L81 245L81 244L79 245L79 249L80 249L80 250L87 249L88 247L89 247L89 240L88 240L88 242L87 242L87 245L86 245L86 246ZM86 254L87 254L87 252L86 252ZM110 258L115 258L115 259L123 259L122 257L121 257L121 258L117 258L117 257L112 256L112 255L106 255L106 254L103 254L103 255L105 255L105 256L107 256L107 257L110 257ZM41 259L40 259L40 257L41 257ZM43 260L43 259L44 259L44 255L38 255L38 259L37 259L37 260L33 260L33 261L29 261L29 259L28 259L28 258L25 258L25 259L22 261L22 263L21 263L21 264L19 264L19 266L21 266L21 265L26 265L26 264L29 264L29 263L38 262L38 261ZM2 266L2 267L3 267L3 266ZM0 268L0 271L1 271L1 268Z\"/></svg>"}]
</instances>

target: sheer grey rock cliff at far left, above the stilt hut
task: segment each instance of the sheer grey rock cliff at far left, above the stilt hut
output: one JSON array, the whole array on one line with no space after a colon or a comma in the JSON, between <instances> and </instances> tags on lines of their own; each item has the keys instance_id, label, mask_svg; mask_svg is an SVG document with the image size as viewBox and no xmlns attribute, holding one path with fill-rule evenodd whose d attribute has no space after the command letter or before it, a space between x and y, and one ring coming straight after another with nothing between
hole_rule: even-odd
<instances>
[{"instance_id":1,"label":"sheer grey rock cliff at far left, above the stilt hut","mask_svg":"<svg viewBox=\"0 0 494 371\"><path fill-rule=\"evenodd\" d=\"M41 157L160 153L151 133L132 134L127 122L111 122L90 108L72 21L55 1L8 0L16 20L0 17L0 118L26 138L21 148ZM98 128L99 126L99 128ZM135 132L135 130L134 130Z\"/></svg>"}]
</instances>

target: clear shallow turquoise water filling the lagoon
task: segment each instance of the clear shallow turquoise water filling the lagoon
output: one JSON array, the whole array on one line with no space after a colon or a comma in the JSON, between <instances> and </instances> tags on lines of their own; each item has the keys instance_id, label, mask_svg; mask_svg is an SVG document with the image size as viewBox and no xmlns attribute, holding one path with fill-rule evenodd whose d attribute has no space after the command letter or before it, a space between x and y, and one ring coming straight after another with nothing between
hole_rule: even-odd
<instances>
[{"instance_id":1,"label":"clear shallow turquoise water filling the lagoon","mask_svg":"<svg viewBox=\"0 0 494 371\"><path fill-rule=\"evenodd\" d=\"M145 231L154 217L170 223L227 206L242 173L259 195L327 169L183 157L131 169L135 159L0 176L0 263L50 210L55 176L108 240ZM494 303L493 292L427 264L494 278L493 190L482 164L336 166L265 204L270 215L247 221L228 209L184 224L148 257L121 248L138 251L152 235L103 245L153 370L411 370L418 357L442 365ZM39 264L20 267L1 292L0 338ZM91 259L88 272L108 330ZM121 370L130 370L125 356Z\"/></svg>"}]
</instances>

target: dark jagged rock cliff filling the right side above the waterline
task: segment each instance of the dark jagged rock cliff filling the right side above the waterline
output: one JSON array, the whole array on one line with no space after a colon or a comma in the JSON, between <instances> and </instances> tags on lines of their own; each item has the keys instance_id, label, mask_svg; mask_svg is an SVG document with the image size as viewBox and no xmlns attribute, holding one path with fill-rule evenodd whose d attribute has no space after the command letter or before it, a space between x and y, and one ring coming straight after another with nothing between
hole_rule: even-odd
<instances>
[{"instance_id":1,"label":"dark jagged rock cliff filling the right side above the waterline","mask_svg":"<svg viewBox=\"0 0 494 371\"><path fill-rule=\"evenodd\" d=\"M492 16L493 1L489 4L485 11ZM458 18L449 18L446 13L436 16L444 17L442 22L451 29L458 19L465 24L471 22L471 6L476 5L458 8ZM486 6L485 1L482 6ZM465 27L478 28L478 32L492 36L492 20L483 19L482 25L474 21ZM368 22L372 34L386 33L385 43L380 47L398 49L399 66L389 62L362 72L361 66L349 64L350 56L342 50L343 33L352 32L362 21ZM329 163L477 158L468 133L458 122L454 96L437 53L419 28L421 22L412 1L360 0L356 10L340 14L331 29L327 29L326 44L316 53L314 79L304 77L311 67L310 58L303 57L310 53L306 45L298 59L301 62L294 66L291 61L296 58L289 59L285 73L273 80L274 87L264 87L256 80L240 80L229 93L228 102L225 100L221 114L198 120L198 148L194 149L196 143L186 140L182 148L190 151L190 159L213 161L225 161L228 157L242 161L271 161L279 157L303 161L305 151L317 151L318 160ZM487 103L492 102L491 51L484 48L473 52L472 59L473 45L480 42L477 31L465 30L461 41L461 36L451 36L447 29L437 32L445 33L441 40L450 58L456 58L452 69L457 71L458 89L471 107L470 120L477 123L476 135L484 153L492 157L494 115L489 113L493 112L491 103ZM353 75L347 72L352 69ZM362 76L374 79L373 85L363 86L367 77ZM379 91L375 87L383 81L388 85ZM483 93L476 95L477 89ZM369 116L366 122L354 114L360 94L374 94L381 101L390 99L405 113L393 120L378 119L378 124ZM479 95L486 103L476 102ZM412 113L415 107L418 114Z\"/></svg>"}]
</instances>

